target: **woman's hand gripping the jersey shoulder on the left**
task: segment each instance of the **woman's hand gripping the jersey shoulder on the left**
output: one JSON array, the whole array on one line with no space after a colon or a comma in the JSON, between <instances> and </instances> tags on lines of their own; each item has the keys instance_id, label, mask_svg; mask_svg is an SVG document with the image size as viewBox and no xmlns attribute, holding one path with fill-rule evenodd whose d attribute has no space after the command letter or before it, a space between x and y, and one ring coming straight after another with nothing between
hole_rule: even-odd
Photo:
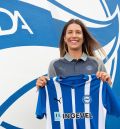
<instances>
[{"instance_id":1,"label":"woman's hand gripping the jersey shoulder on the left","mask_svg":"<svg viewBox=\"0 0 120 129\"><path fill-rule=\"evenodd\" d=\"M37 79L36 81L36 86L37 88L39 89L40 87L43 87L46 85L47 83L47 80L49 80L49 77L48 76L41 76Z\"/></svg>"}]
</instances>

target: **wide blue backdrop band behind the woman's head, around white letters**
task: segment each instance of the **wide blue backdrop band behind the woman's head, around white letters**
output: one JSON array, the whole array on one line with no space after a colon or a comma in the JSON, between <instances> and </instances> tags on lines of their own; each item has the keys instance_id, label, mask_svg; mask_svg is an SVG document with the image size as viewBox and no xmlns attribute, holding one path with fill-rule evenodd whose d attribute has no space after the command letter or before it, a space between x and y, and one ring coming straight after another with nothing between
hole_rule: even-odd
<instances>
[{"instance_id":1,"label":"wide blue backdrop band behind the woman's head, around white letters","mask_svg":"<svg viewBox=\"0 0 120 129\"><path fill-rule=\"evenodd\" d=\"M16 46L58 47L59 37L65 22L52 18L49 11L40 7L36 7L15 0L9 2L6 1L1 2L0 6L4 9L7 9L12 14L14 14L15 10L19 11L34 34L30 34L27 30L21 29L22 23L20 20L18 20L18 29L14 34L0 36L0 49ZM29 12L28 10L31 11ZM5 13L0 13L0 17L0 19L2 19L0 20L0 26L3 30L6 28L8 29L12 26L11 19L8 15L6 15ZM80 16L80 18L81 17L82 16ZM84 20L87 20L87 18L84 17ZM88 20L90 21L90 19ZM100 21L94 20L94 23L96 24L99 24L99 22ZM118 17L116 15L114 19L105 22L101 21L100 24L106 24L107 26L102 28L88 29L94 35L94 37L102 44L102 46L104 46L116 35L118 35ZM105 34L103 34L103 32Z\"/></svg>"}]
</instances>

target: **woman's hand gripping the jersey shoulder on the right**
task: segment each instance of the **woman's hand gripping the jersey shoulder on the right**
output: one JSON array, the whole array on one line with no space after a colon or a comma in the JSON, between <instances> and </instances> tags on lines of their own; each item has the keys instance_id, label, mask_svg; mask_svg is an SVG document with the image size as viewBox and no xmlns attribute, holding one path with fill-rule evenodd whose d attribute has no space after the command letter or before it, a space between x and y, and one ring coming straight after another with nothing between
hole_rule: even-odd
<instances>
[{"instance_id":1,"label":"woman's hand gripping the jersey shoulder on the right","mask_svg":"<svg viewBox=\"0 0 120 129\"><path fill-rule=\"evenodd\" d=\"M102 81L108 82L109 85L112 85L111 78L110 78L110 76L109 76L106 72L98 71L98 72L96 73L96 76L97 76L98 78L100 78Z\"/></svg>"}]
</instances>

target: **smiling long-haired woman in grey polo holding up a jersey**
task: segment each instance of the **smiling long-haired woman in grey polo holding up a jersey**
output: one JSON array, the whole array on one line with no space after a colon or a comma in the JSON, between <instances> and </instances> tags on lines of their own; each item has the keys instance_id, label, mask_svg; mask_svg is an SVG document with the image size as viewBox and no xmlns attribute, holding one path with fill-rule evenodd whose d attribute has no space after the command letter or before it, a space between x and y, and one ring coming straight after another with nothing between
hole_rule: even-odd
<instances>
[{"instance_id":1,"label":"smiling long-haired woman in grey polo holding up a jersey","mask_svg":"<svg viewBox=\"0 0 120 129\"><path fill-rule=\"evenodd\" d=\"M103 62L94 52L99 49L104 54L104 51L80 20L71 19L65 24L59 48L60 58L51 61L48 76L38 78L37 87L45 86L49 77L78 74L96 74L102 81L112 84Z\"/></svg>"}]
</instances>

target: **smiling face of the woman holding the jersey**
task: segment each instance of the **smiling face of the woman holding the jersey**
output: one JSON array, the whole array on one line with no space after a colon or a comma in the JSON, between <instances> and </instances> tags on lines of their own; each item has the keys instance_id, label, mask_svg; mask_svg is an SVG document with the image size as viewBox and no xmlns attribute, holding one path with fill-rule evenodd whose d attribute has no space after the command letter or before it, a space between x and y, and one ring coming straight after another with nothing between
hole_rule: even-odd
<instances>
[{"instance_id":1,"label":"smiling face of the woman holding the jersey","mask_svg":"<svg viewBox=\"0 0 120 129\"><path fill-rule=\"evenodd\" d=\"M69 50L82 50L83 32L80 25L72 23L67 27L64 41Z\"/></svg>"}]
</instances>

